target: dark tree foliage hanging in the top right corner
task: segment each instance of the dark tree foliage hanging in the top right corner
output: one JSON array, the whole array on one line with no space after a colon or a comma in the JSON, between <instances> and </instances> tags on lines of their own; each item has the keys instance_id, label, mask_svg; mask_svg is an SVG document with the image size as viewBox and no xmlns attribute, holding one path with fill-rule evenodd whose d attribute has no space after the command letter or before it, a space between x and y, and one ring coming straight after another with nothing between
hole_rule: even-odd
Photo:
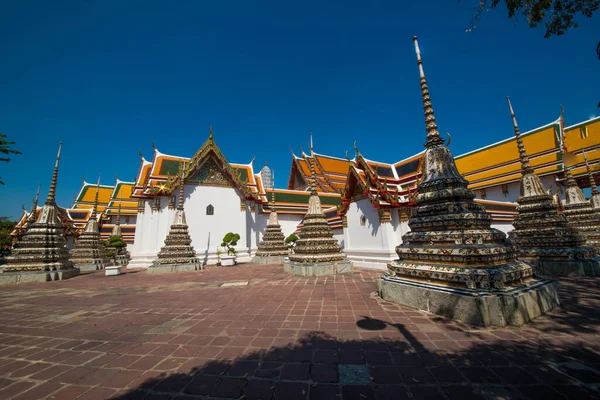
<instances>
[{"instance_id":1,"label":"dark tree foliage hanging in the top right corner","mask_svg":"<svg viewBox=\"0 0 600 400\"><path fill-rule=\"evenodd\" d=\"M459 2L463 3L464 0ZM523 16L531 28L544 23L545 38L560 36L569 28L577 28L576 17L591 18L600 7L600 0L479 0L477 3L473 7L473 18L467 31L475 28L484 12L503 3L508 9L508 18Z\"/></svg>"}]
</instances>

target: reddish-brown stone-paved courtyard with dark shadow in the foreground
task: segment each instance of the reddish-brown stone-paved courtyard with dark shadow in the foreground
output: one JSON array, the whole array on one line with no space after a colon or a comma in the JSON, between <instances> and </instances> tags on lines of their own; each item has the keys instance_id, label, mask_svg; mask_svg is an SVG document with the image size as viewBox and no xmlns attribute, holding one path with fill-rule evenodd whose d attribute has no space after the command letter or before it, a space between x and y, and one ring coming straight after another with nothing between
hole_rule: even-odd
<instances>
[{"instance_id":1,"label":"reddish-brown stone-paved courtyard with dark shadow in the foreground","mask_svg":"<svg viewBox=\"0 0 600 400\"><path fill-rule=\"evenodd\" d=\"M598 280L482 329L378 299L378 271L282 269L1 286L0 399L600 398Z\"/></svg>"}]
</instances>

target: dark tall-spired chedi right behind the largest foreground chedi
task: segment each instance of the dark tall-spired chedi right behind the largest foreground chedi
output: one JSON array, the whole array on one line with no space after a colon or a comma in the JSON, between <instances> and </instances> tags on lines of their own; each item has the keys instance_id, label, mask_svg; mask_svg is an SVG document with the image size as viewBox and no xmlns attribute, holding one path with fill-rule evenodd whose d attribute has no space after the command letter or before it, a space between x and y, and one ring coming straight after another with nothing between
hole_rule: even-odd
<instances>
[{"instance_id":1,"label":"dark tall-spired chedi right behind the largest foreground chedi","mask_svg":"<svg viewBox=\"0 0 600 400\"><path fill-rule=\"evenodd\" d=\"M521 160L521 195L517 199L514 230L509 232L517 245L522 260L530 262L536 271L545 275L600 274L593 246L585 246L585 236L567 223L558 211L552 195L548 194L540 178L534 173L521 138L515 112L506 98L517 139Z\"/></svg>"}]
</instances>

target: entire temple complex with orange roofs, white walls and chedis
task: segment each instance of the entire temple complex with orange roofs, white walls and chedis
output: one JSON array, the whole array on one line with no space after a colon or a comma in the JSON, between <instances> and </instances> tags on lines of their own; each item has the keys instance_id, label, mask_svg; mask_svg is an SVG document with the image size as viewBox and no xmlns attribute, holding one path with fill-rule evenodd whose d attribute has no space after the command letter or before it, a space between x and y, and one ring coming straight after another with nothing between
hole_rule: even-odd
<instances>
[{"instance_id":1,"label":"entire temple complex with orange roofs, white walls and chedis","mask_svg":"<svg viewBox=\"0 0 600 400\"><path fill-rule=\"evenodd\" d=\"M57 157L49 200L23 211L0 278L11 263L29 268L33 256L19 254L37 251L31 232L61 232L46 246L71 249L70 260L61 250L55 263L66 277L109 268L98 243L115 234L127 243L123 264L159 273L226 265L223 242L234 233L237 264L284 264L303 276L378 268L382 297L477 325L521 325L556 307L554 284L540 274L600 275L600 117L565 126L560 112L521 132L509 100L506 139L453 156L437 130L416 38L415 49L424 150L386 163L363 154L359 138L352 158L338 158L317 152L311 135L308 153L291 154L287 187L276 188L268 166L231 162L211 127L194 154L167 155L152 143L134 182L84 181L64 208L54 201ZM582 188L591 188L589 199ZM288 249L291 234L299 239Z\"/></svg>"}]
</instances>

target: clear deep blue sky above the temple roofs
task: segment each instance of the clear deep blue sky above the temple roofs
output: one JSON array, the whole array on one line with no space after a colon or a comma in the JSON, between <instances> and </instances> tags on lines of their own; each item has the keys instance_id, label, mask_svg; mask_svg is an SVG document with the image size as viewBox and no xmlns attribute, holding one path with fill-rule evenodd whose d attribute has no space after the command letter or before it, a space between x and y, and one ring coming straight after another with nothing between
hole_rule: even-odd
<instances>
[{"instance_id":1,"label":"clear deep blue sky above the temple roofs","mask_svg":"<svg viewBox=\"0 0 600 400\"><path fill-rule=\"evenodd\" d=\"M191 156L211 124L231 162L268 161L277 187L309 132L323 154L357 140L367 158L410 156L425 137L414 35L454 154L512 135L507 95L523 131L560 104L567 125L597 115L599 17L544 39L502 8L467 33L471 13L448 0L4 2L0 132L23 155L0 164L0 215L29 208L38 184L45 198L60 141L65 207L82 176L131 181L138 149Z\"/></svg>"}]
</instances>

